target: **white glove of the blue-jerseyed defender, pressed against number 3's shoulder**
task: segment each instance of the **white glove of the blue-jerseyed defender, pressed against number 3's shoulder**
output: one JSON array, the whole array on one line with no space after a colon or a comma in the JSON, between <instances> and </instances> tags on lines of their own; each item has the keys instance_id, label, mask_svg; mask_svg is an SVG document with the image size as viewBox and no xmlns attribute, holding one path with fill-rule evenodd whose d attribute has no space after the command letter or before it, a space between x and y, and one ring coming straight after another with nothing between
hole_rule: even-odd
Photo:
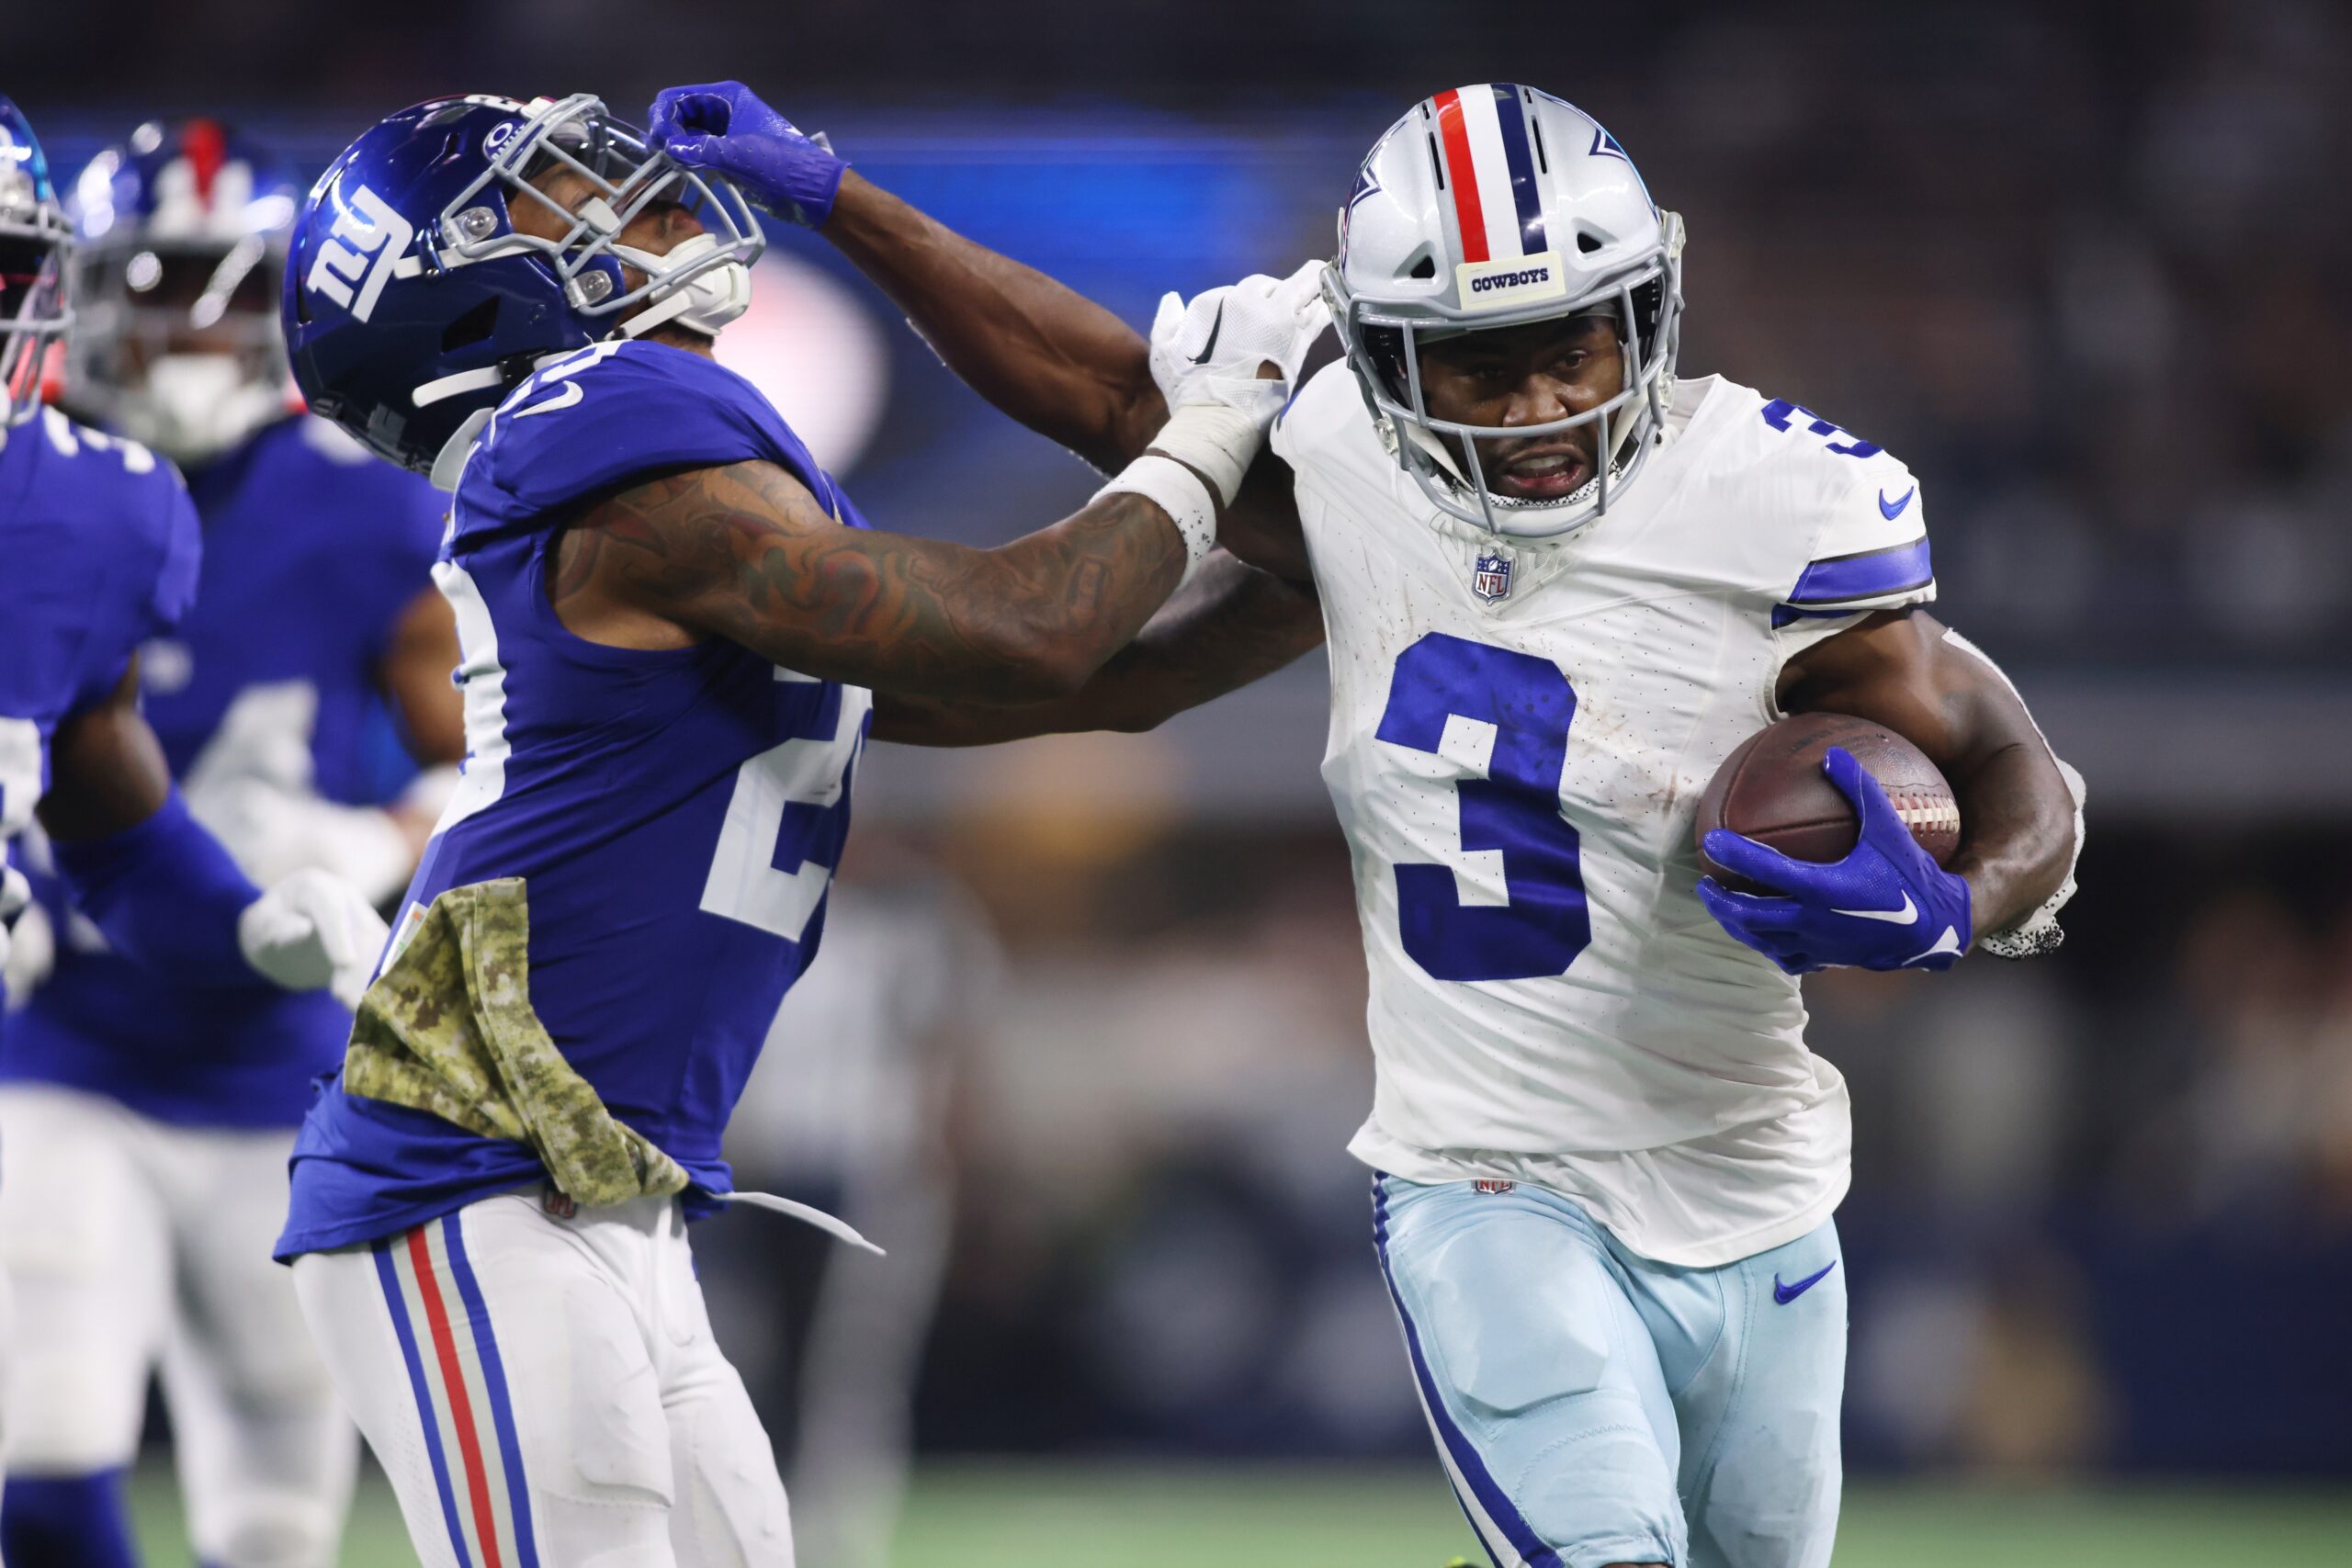
<instances>
[{"instance_id":1,"label":"white glove of the blue-jerseyed defender, pressed against number 3's shoulder","mask_svg":"<svg viewBox=\"0 0 2352 1568\"><path fill-rule=\"evenodd\" d=\"M1190 301L1160 299L1150 364L1169 423L1152 449L1204 473L1228 505L1265 425L1289 402L1308 348L1331 322L1322 273L1324 263L1310 261L1289 277L1254 273ZM1261 378L1263 364L1282 376Z\"/></svg>"}]
</instances>

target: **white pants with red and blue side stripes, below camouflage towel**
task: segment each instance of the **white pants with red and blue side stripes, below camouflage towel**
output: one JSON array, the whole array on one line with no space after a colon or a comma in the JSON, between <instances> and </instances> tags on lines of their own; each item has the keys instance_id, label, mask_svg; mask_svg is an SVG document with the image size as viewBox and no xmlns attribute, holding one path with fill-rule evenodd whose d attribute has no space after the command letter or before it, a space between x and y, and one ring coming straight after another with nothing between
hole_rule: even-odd
<instances>
[{"instance_id":1,"label":"white pants with red and blue side stripes, below camouflage towel","mask_svg":"<svg viewBox=\"0 0 2352 1568\"><path fill-rule=\"evenodd\" d=\"M503 1192L294 1262L423 1568L790 1568L677 1204L555 1208Z\"/></svg>"}]
</instances>

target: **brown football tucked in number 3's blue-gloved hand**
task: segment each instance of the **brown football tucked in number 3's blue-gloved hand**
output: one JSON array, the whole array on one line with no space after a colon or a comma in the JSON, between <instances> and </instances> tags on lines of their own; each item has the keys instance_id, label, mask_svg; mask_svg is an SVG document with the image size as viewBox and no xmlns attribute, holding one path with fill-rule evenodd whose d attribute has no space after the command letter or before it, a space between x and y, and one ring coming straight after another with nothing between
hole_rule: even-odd
<instances>
[{"instance_id":1,"label":"brown football tucked in number 3's blue-gloved hand","mask_svg":"<svg viewBox=\"0 0 2352 1568\"><path fill-rule=\"evenodd\" d=\"M1959 849L1959 802L1943 771L1891 729L1846 712L1799 712L1748 736L1698 797L1698 860L1729 889L1769 893L1733 877L1703 849L1710 827L1743 832L1790 860L1844 860L1863 832L1860 818L1820 759L1844 745L1910 825L1919 849L1943 865Z\"/></svg>"}]
</instances>

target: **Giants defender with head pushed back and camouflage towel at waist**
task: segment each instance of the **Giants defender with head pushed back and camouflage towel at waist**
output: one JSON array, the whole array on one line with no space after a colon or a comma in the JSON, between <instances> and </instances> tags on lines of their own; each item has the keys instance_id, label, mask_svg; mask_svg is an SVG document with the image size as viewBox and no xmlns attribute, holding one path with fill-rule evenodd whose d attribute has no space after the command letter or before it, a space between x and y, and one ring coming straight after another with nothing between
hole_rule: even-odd
<instances>
[{"instance_id":1,"label":"Giants defender with head pushed back and camouflage towel at waist","mask_svg":"<svg viewBox=\"0 0 2352 1568\"><path fill-rule=\"evenodd\" d=\"M1084 684L1207 562L1312 308L1268 282L1272 353L1143 381L1117 440L1152 454L974 550L870 529L715 362L760 247L586 94L402 110L296 221L303 395L454 489L463 778L278 1244L430 1568L793 1561L684 1220L760 1197L720 1131L823 933L877 693ZM1141 378L1112 317L1023 294Z\"/></svg>"}]
</instances>

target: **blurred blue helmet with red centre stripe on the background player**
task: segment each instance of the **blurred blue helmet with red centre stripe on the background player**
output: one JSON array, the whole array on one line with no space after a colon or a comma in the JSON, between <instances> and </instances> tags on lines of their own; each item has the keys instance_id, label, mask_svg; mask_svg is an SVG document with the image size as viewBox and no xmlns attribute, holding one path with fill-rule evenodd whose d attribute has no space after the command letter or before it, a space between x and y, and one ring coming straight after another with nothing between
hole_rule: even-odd
<instances>
[{"instance_id":1,"label":"blurred blue helmet with red centre stripe on the background player","mask_svg":"<svg viewBox=\"0 0 2352 1568\"><path fill-rule=\"evenodd\" d=\"M278 270L292 165L214 120L141 125L73 181L66 402L179 463L292 407Z\"/></svg>"}]
</instances>

